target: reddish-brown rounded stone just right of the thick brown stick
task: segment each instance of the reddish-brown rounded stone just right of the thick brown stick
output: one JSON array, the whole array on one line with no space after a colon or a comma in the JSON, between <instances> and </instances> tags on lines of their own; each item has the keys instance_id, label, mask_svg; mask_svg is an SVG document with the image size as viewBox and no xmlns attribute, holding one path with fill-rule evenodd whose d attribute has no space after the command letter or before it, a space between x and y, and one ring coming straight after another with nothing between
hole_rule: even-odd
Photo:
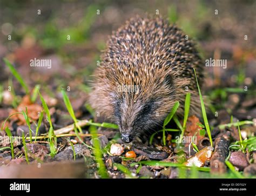
<instances>
[{"instance_id":1,"label":"reddish-brown rounded stone just right of the thick brown stick","mask_svg":"<svg viewBox=\"0 0 256 196\"><path fill-rule=\"evenodd\" d=\"M239 168L239 171L244 170L249 165L246 155L242 152L232 152L229 160L232 165Z\"/></svg>"}]
</instances>

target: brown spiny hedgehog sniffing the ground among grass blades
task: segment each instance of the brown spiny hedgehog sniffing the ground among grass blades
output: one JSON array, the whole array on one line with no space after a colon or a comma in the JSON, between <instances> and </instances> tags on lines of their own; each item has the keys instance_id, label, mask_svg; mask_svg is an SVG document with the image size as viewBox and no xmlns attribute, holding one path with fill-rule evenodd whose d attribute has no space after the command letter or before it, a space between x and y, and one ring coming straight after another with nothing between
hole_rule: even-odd
<instances>
[{"instance_id":1,"label":"brown spiny hedgehog sniffing the ground among grass blades","mask_svg":"<svg viewBox=\"0 0 256 196\"><path fill-rule=\"evenodd\" d=\"M198 113L203 63L196 44L176 25L161 17L136 16L107 40L95 71L89 103L98 116L119 126L121 138L149 135L163 125L174 103L184 115L186 93L190 114Z\"/></svg>"}]
</instances>

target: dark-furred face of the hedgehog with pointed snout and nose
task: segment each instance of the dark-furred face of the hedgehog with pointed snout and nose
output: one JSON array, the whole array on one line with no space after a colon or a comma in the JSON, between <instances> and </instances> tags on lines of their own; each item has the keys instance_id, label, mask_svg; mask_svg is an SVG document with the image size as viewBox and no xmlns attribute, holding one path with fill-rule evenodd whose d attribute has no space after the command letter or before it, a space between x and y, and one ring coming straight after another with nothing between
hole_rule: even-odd
<instances>
[{"instance_id":1,"label":"dark-furred face of the hedgehog with pointed snout and nose","mask_svg":"<svg viewBox=\"0 0 256 196\"><path fill-rule=\"evenodd\" d=\"M166 99L163 97L148 98L145 100L143 92L138 94L136 100L131 94L122 94L113 105L114 119L119 125L121 138L130 143L134 136L140 136L162 124L166 116ZM144 99L142 99L142 97ZM166 112L165 112L166 111Z\"/></svg>"}]
</instances>

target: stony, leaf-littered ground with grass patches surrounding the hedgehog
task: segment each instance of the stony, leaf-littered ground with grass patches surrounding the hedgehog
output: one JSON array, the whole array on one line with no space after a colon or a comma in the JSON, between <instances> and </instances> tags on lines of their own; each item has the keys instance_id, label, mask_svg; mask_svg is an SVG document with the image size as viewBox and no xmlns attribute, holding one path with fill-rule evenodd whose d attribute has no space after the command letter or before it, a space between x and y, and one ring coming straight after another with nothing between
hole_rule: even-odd
<instances>
[{"instance_id":1,"label":"stony, leaf-littered ground with grass patches surrounding the hedgehog","mask_svg":"<svg viewBox=\"0 0 256 196\"><path fill-rule=\"evenodd\" d=\"M185 136L198 137L200 156L191 144L176 143L177 132L166 132L166 145L162 133L152 138L152 144L150 135L124 144L113 124L92 123L104 120L96 118L87 104L100 53L112 31L136 15L160 15L194 39L203 60L226 60L226 68L205 67L202 87L209 104L207 117L213 147L223 154L214 155L210 149L213 155L207 158L210 140L201 133L204 120L195 116L188 118ZM255 1L52 1L50 5L31 0L1 1L0 178L255 178L255 15ZM15 67L29 92L3 58ZM30 60L35 58L51 59L51 67L31 66ZM31 101L37 85L49 107L56 137L49 136L51 123L46 114L41 126L37 126L38 112L46 112L39 96ZM74 120L63 100L62 88L82 132L72 129ZM238 126L238 120L244 123ZM6 127L17 139L13 144L4 140L8 135ZM178 129L173 122L170 127ZM56 148L54 155L51 143ZM118 144L122 153L111 153L113 144ZM191 157L204 160L196 174L184 166ZM217 170L211 167L211 161L220 165ZM23 172L28 171L25 168L31 168L30 172Z\"/></svg>"}]
</instances>

